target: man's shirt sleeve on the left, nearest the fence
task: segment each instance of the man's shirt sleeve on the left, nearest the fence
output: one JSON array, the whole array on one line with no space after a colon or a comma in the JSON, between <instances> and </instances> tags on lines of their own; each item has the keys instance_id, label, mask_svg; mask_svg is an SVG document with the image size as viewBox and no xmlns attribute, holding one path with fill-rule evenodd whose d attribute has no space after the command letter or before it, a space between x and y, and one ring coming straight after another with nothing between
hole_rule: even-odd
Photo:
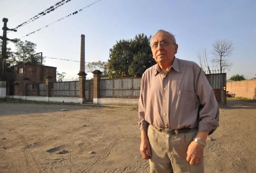
<instances>
[{"instance_id":1,"label":"man's shirt sleeve on the left, nearest the fence","mask_svg":"<svg viewBox=\"0 0 256 173\"><path fill-rule=\"evenodd\" d=\"M140 130L147 130L149 123L145 120L145 108L144 108L144 86L145 86L145 75L143 74L141 77L141 88L140 88L140 98L139 98L139 121L137 124L139 125Z\"/></svg>"}]
</instances>

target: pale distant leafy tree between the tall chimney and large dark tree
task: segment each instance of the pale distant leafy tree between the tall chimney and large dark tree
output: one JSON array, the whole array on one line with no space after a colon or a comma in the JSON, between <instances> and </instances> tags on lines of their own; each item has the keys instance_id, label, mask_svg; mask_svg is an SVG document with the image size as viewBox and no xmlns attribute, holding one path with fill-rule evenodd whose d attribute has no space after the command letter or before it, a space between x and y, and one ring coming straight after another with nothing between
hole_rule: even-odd
<instances>
[{"instance_id":1,"label":"pale distant leafy tree between the tall chimney and large dark tree","mask_svg":"<svg viewBox=\"0 0 256 173\"><path fill-rule=\"evenodd\" d=\"M93 72L94 70L99 70L102 72L103 77L108 76L107 62L104 62L104 61L87 63L85 65L85 70L86 72Z\"/></svg>"}]
</instances>

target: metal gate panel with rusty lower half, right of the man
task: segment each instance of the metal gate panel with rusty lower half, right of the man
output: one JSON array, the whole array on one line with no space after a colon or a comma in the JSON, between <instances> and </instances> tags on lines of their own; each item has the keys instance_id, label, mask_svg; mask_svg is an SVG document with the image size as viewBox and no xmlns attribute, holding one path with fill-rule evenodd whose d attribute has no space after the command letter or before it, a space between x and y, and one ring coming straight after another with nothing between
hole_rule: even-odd
<instances>
[{"instance_id":1,"label":"metal gate panel with rusty lower half, right of the man","mask_svg":"<svg viewBox=\"0 0 256 173\"><path fill-rule=\"evenodd\" d=\"M227 105L226 98L226 73L206 74L218 104Z\"/></svg>"}]
</instances>

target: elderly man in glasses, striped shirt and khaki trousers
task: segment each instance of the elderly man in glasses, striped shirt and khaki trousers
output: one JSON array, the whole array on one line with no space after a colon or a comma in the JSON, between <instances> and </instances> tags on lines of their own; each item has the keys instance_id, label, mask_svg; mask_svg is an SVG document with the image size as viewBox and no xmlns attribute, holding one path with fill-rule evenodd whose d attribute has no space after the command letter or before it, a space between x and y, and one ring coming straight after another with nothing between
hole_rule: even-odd
<instances>
[{"instance_id":1,"label":"elderly man in glasses, striped shirt and khaki trousers","mask_svg":"<svg viewBox=\"0 0 256 173\"><path fill-rule=\"evenodd\" d=\"M196 63L175 57L172 33L158 30L150 47L157 64L141 79L142 157L150 172L204 172L206 138L219 126L214 92Z\"/></svg>"}]
</instances>

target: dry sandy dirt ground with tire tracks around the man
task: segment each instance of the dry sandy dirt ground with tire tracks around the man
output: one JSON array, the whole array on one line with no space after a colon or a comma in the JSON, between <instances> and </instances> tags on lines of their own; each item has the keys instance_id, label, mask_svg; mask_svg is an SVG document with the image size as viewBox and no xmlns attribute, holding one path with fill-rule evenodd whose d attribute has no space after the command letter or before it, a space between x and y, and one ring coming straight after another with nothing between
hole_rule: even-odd
<instances>
[{"instance_id":1,"label":"dry sandy dirt ground with tire tracks around the man","mask_svg":"<svg viewBox=\"0 0 256 173\"><path fill-rule=\"evenodd\" d=\"M0 172L149 172L137 120L132 108L0 104ZM255 132L256 103L228 100L205 172L256 172Z\"/></svg>"}]
</instances>

